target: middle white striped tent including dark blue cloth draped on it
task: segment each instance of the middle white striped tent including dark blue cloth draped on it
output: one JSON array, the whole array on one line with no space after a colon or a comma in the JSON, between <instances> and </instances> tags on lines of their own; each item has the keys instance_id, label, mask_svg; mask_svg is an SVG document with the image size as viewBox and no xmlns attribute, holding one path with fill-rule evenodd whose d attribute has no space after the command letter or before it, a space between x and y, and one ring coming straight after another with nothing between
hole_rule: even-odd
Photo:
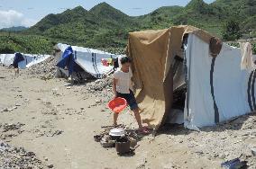
<instances>
[{"instance_id":1,"label":"middle white striped tent including dark blue cloth draped on it","mask_svg":"<svg viewBox=\"0 0 256 169\"><path fill-rule=\"evenodd\" d=\"M105 67L102 64L102 59L123 57L97 49L87 49L60 43L57 45L57 49L61 51L57 66L61 68L68 67L69 75L76 71L75 69L78 65L88 74L96 78L102 78L105 74L112 72L114 68L112 66ZM72 63L73 61L75 64Z\"/></svg>"}]
</instances>

